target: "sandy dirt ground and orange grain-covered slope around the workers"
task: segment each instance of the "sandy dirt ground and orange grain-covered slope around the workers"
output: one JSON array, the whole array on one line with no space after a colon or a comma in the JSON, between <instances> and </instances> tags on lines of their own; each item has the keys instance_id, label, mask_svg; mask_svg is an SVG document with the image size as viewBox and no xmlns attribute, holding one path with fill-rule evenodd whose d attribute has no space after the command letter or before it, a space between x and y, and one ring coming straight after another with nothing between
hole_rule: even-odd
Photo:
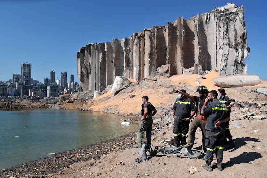
<instances>
[{"instance_id":1,"label":"sandy dirt ground and orange grain-covered slope around the workers","mask_svg":"<svg viewBox=\"0 0 267 178\"><path fill-rule=\"evenodd\" d=\"M66 103L62 100L54 104L30 102L25 104L25 107L31 105L31 108L42 106L55 109L109 112L125 116L124 121L138 122L142 104L141 98L147 95L149 101L158 111L153 117L157 122L153 124L151 144L153 147L169 147L171 145L164 144L162 141L170 140L173 137L171 108L177 98L177 93L169 94L169 92L173 89L185 89L187 93L197 96L195 91L199 85L205 85L209 90L218 90L219 87L214 85L214 77L219 77L218 72L211 71L205 76L197 74L187 76L183 74L170 78L161 75L156 76L153 80L142 80L140 83L130 80L125 83L127 87L115 96L109 95L110 88L107 87L107 91L101 93L102 95L98 98L91 100L89 98L92 97L92 93L80 92L79 96L78 94L73 95L73 103ZM127 135L106 141L106 143L99 143L98 146L90 145L81 150L76 150L73 154L62 153L62 157L54 160L50 157L46 164L40 160L40 162L36 161L34 166L29 166L27 174L25 174L23 165L20 165L13 168L13 171L2 170L0 175L2 177L45 178L266 177L267 97L265 94L259 93L256 87L267 88L267 82L261 81L261 84L256 86L225 88L227 96L236 100L230 120L230 132L235 147L230 150L224 149L223 171L218 171L215 158L212 162L212 172L203 168L205 161L202 159L182 158L172 154L164 155L159 152L146 161L137 153L140 149L132 147L136 144L135 132L131 133L131 136ZM0 107L3 108L3 104ZM247 108L248 111L245 111L244 108ZM258 118L253 118L252 115ZM201 131L198 129L193 148L201 150L201 139ZM112 142L114 143L113 146L111 146ZM79 155L79 153L82 154ZM98 156L96 156L97 154ZM72 155L72 157L69 155ZM55 158L58 156L55 155ZM68 161L71 158L77 159L74 159L73 162ZM62 162L57 164L57 160L60 159L62 159ZM142 161L140 163L136 162L138 159ZM61 164L64 161L66 164ZM59 169L60 165L61 168ZM49 167L54 167L54 169L49 169ZM35 171L37 169L50 171Z\"/></svg>"}]
</instances>

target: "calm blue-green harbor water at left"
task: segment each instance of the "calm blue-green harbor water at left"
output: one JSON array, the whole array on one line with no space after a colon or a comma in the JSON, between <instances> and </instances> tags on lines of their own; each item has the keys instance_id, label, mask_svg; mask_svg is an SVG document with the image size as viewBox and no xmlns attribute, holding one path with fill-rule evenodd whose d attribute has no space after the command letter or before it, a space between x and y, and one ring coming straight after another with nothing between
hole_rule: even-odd
<instances>
[{"instance_id":1,"label":"calm blue-green harbor water at left","mask_svg":"<svg viewBox=\"0 0 267 178\"><path fill-rule=\"evenodd\" d=\"M0 170L116 138L138 129L102 112L0 110Z\"/></svg>"}]
</instances>

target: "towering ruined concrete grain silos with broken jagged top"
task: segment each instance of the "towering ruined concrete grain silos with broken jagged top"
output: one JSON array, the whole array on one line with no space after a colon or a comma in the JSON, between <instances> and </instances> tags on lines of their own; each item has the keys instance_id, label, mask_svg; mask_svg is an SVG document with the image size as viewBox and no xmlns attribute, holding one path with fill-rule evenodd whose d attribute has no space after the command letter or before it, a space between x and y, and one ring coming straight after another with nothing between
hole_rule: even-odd
<instances>
[{"instance_id":1,"label":"towering ruined concrete grain silos with broken jagged top","mask_svg":"<svg viewBox=\"0 0 267 178\"><path fill-rule=\"evenodd\" d=\"M83 91L93 92L103 91L116 76L153 78L166 64L170 75L214 69L221 76L247 74L248 54L244 7L227 4L129 38L88 44L77 53L77 69Z\"/></svg>"}]
</instances>

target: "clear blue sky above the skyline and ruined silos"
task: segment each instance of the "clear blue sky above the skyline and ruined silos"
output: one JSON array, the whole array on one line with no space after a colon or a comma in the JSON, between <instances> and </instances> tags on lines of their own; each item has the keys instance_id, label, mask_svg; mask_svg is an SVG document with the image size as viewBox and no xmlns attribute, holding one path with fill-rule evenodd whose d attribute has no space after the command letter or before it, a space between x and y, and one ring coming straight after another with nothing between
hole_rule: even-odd
<instances>
[{"instance_id":1,"label":"clear blue sky above the skyline and ruined silos","mask_svg":"<svg viewBox=\"0 0 267 178\"><path fill-rule=\"evenodd\" d=\"M227 3L244 5L250 55L247 74L267 81L267 1L180 0L0 0L0 81L32 64L32 78L44 82L55 71L77 77L78 50L88 43L122 39L153 25L166 26L178 17L189 19Z\"/></svg>"}]
</instances>

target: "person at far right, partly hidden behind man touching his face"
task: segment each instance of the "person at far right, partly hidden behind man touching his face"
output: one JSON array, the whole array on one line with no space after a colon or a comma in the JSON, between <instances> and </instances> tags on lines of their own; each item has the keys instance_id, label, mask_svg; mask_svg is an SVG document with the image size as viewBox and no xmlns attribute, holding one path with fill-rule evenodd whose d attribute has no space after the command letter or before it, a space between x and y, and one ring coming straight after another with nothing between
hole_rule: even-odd
<instances>
[{"instance_id":1,"label":"person at far right, partly hidden behind man touching his face","mask_svg":"<svg viewBox=\"0 0 267 178\"><path fill-rule=\"evenodd\" d=\"M228 111L229 113L231 113L231 107L234 106L235 104L235 100L234 99L231 99L229 98L228 96L226 96L226 93L225 93L225 90L220 88L218 89L218 99L220 102L223 102L226 104L226 106L228 107ZM234 141L233 141L233 138L232 138L232 135L231 135L231 132L229 130L229 122L230 121L227 121L225 122L225 142L227 143L227 138L229 140L229 144L226 146L227 149L231 149L231 148L234 148Z\"/></svg>"}]
</instances>

